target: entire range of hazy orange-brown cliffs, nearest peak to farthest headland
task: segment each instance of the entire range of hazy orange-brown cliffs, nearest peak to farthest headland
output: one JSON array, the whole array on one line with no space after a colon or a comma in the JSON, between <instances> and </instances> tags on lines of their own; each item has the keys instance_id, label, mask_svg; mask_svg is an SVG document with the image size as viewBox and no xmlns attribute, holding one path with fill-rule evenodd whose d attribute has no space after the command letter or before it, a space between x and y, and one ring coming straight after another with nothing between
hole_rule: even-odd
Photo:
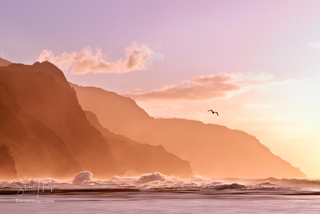
<instances>
[{"instance_id":1,"label":"entire range of hazy orange-brown cliffs, nearest peak to farthest headland","mask_svg":"<svg viewBox=\"0 0 320 214\"><path fill-rule=\"evenodd\" d=\"M81 170L98 178L155 171L190 177L189 162L206 177L306 177L242 131L154 119L130 98L71 86L48 62L0 67L0 144L10 146L18 177L63 178ZM0 170L14 176L7 153Z\"/></svg>"}]
</instances>

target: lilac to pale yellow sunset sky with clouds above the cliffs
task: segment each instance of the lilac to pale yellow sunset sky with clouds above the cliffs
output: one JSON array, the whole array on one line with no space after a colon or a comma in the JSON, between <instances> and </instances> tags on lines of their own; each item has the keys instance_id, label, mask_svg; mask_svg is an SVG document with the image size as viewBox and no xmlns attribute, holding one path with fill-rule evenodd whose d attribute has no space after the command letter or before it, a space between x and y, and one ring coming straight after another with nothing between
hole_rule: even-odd
<instances>
[{"instance_id":1,"label":"lilac to pale yellow sunset sky with clouds above the cliffs","mask_svg":"<svg viewBox=\"0 0 320 214\"><path fill-rule=\"evenodd\" d=\"M301 3L3 1L0 57L243 130L320 178L320 1Z\"/></svg>"}]
</instances>

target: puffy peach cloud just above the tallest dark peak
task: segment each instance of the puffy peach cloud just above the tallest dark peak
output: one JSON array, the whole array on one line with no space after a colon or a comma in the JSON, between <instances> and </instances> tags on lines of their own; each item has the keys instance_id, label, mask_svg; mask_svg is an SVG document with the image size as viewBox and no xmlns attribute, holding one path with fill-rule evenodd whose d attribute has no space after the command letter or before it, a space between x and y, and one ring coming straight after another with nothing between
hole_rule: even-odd
<instances>
[{"instance_id":1,"label":"puffy peach cloud just above the tallest dark peak","mask_svg":"<svg viewBox=\"0 0 320 214\"><path fill-rule=\"evenodd\" d=\"M79 52L56 55L51 50L43 50L38 57L39 62L49 61L57 65L63 72L72 74L85 73L128 73L148 68L155 53L148 45L133 42L124 49L125 59L107 60L100 48L92 51L85 47Z\"/></svg>"}]
</instances>

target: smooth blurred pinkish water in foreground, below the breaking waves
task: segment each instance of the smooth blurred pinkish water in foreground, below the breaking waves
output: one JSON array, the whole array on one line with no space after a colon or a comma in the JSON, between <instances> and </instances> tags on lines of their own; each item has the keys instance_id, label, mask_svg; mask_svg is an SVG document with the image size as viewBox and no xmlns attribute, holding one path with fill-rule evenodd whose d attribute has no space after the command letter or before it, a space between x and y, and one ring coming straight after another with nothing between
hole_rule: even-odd
<instances>
[{"instance_id":1,"label":"smooth blurred pinkish water in foreground, below the breaking waves","mask_svg":"<svg viewBox=\"0 0 320 214\"><path fill-rule=\"evenodd\" d=\"M23 195L20 200L36 200ZM274 192L121 192L41 195L51 202L16 202L0 195L1 212L13 213L319 213L320 195ZM52 200L54 202L52 202Z\"/></svg>"}]
</instances>

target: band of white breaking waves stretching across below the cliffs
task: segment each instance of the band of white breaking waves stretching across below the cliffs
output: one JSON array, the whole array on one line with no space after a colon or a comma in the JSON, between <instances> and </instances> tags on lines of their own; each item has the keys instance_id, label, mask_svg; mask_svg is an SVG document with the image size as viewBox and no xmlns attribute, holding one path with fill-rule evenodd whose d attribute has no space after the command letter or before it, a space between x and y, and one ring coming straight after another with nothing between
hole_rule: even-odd
<instances>
[{"instance_id":1,"label":"band of white breaking waves stretching across below the cliffs","mask_svg":"<svg viewBox=\"0 0 320 214\"><path fill-rule=\"evenodd\" d=\"M94 179L89 171L82 171L71 180L54 178L15 179L0 181L1 192L14 192L18 186L37 186L38 183L65 191L273 191L320 192L320 180L308 179L210 179L195 176L191 179L169 177L160 172L140 176L112 176L107 180ZM41 184L41 185L42 185ZM56 191L58 191L56 190ZM53 191L54 192L54 191Z\"/></svg>"}]
</instances>

